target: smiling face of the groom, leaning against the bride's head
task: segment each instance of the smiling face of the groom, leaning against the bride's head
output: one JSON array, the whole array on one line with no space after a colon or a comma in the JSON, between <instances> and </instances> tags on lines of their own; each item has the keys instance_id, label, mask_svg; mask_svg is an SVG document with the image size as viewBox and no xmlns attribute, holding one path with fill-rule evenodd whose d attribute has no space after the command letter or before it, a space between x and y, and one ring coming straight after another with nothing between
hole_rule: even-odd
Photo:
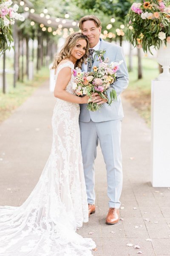
<instances>
[{"instance_id":1,"label":"smiling face of the groom, leaning against the bride's head","mask_svg":"<svg viewBox=\"0 0 170 256\"><path fill-rule=\"evenodd\" d=\"M84 21L82 24L82 34L87 35L90 48L93 48L98 42L102 27L97 27L94 21Z\"/></svg>"}]
</instances>

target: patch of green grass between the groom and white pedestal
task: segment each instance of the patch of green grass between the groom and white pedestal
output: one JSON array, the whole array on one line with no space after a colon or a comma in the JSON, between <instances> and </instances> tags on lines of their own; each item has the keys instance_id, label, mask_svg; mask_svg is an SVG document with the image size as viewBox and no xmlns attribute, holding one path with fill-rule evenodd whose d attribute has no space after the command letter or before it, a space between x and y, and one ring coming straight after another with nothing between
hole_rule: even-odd
<instances>
[{"instance_id":1,"label":"patch of green grass between the groom and white pedestal","mask_svg":"<svg viewBox=\"0 0 170 256\"><path fill-rule=\"evenodd\" d=\"M123 92L125 98L136 108L150 126L150 88L151 80L159 75L156 59L142 58L143 78L138 79L137 56L133 57L133 71L129 72L129 86ZM127 59L128 63L128 59Z\"/></svg>"}]
</instances>

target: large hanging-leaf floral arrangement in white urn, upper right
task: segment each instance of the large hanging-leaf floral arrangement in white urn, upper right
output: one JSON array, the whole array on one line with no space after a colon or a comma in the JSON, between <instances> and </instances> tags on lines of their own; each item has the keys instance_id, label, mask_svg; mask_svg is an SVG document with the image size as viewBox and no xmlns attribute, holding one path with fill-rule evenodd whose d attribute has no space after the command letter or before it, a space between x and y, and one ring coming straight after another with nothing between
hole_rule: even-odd
<instances>
[{"instance_id":1,"label":"large hanging-leaf floral arrangement in white urn, upper right","mask_svg":"<svg viewBox=\"0 0 170 256\"><path fill-rule=\"evenodd\" d=\"M126 15L127 39L134 47L158 48L170 42L170 0L133 3Z\"/></svg>"}]
</instances>

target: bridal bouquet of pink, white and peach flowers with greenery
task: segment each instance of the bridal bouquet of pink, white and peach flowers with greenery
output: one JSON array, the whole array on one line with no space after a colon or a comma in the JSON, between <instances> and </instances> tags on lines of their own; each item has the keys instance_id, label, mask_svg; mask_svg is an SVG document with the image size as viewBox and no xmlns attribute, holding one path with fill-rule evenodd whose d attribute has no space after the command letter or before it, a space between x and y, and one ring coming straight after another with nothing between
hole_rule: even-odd
<instances>
[{"instance_id":1,"label":"bridal bouquet of pink, white and peach flowers with greenery","mask_svg":"<svg viewBox=\"0 0 170 256\"><path fill-rule=\"evenodd\" d=\"M78 96L87 94L90 100L93 97L93 93L97 92L103 99L108 100L107 90L110 85L116 80L116 71L119 70L120 62L108 63L109 59L104 61L100 60L99 65L94 66L93 71L85 72L80 68L73 70L74 82L72 83L72 89ZM116 100L116 91L114 89L110 92L111 100L108 102L109 106L113 100ZM97 103L89 102L87 109L90 111L96 111L101 109L101 105Z\"/></svg>"}]
</instances>

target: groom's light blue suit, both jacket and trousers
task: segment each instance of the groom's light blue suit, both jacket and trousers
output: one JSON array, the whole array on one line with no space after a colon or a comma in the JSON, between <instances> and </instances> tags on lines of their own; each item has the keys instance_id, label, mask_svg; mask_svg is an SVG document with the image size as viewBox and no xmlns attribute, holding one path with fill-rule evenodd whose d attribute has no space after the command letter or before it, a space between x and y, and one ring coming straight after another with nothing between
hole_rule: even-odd
<instances>
[{"instance_id":1,"label":"groom's light blue suit, both jacket and trousers","mask_svg":"<svg viewBox=\"0 0 170 256\"><path fill-rule=\"evenodd\" d=\"M128 71L122 47L105 42L102 39L100 40L99 50L106 50L104 58L108 57L110 62L123 60L123 63L120 65L119 71L117 71L116 82L108 89L108 98L112 88L116 90L116 102L113 102L111 106L108 103L104 103L102 104L102 109L96 112L88 111L86 104L80 105L79 125L83 167L88 203L94 204L94 160L99 140L107 170L109 207L119 208L119 198L122 191L122 153L120 141L121 123L124 116L120 93L127 88ZM96 58L92 68L98 64L99 62L97 62Z\"/></svg>"}]
</instances>

